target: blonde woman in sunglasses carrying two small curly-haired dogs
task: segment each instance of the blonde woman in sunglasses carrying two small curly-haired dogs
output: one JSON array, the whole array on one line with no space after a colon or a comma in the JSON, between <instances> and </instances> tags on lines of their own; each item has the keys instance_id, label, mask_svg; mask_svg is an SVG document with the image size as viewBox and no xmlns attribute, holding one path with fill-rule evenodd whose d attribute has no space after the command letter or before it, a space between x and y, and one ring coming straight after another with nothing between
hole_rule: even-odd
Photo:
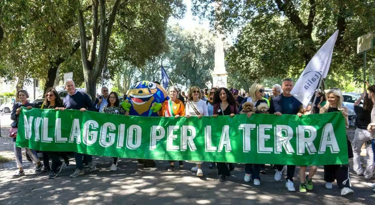
<instances>
[{"instance_id":1,"label":"blonde woman in sunglasses carrying two small curly-haired dogs","mask_svg":"<svg viewBox=\"0 0 375 205\"><path fill-rule=\"evenodd\" d=\"M254 113L266 113L269 109L267 100L263 98L264 94L264 87L258 83L254 83L251 85L249 89L249 97L245 98L239 108L239 113L245 113L243 108L252 107L250 110L246 113L248 117L251 117ZM246 109L245 108L245 109ZM259 108L259 109L258 109ZM260 109L262 108L262 109ZM265 110L263 109L265 108ZM245 182L249 182L250 180L254 181L255 186L260 185L260 172L261 172L262 165L261 164L245 164ZM264 165L263 165L263 171L264 171ZM264 171L264 173L266 173Z\"/></svg>"}]
</instances>

